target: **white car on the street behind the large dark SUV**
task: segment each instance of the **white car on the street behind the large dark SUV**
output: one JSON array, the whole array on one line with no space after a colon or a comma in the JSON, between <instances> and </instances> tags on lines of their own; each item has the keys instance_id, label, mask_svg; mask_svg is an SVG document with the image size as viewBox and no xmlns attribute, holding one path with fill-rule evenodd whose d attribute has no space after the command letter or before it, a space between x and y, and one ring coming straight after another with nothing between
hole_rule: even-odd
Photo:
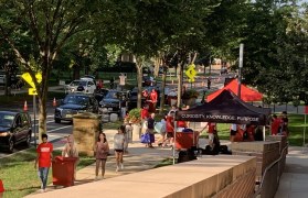
<instances>
[{"instance_id":1,"label":"white car on the street behind the large dark SUV","mask_svg":"<svg viewBox=\"0 0 308 198\"><path fill-rule=\"evenodd\" d=\"M66 92L83 92L83 94L94 94L96 91L96 85L92 79L79 79L73 80L66 87Z\"/></svg>"}]
</instances>

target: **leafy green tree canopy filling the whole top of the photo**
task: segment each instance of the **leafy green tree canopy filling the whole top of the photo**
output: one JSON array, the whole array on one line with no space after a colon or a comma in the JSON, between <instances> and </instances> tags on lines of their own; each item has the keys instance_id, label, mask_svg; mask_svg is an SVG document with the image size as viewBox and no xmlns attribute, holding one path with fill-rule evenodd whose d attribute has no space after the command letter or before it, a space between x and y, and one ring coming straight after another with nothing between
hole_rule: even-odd
<instances>
[{"instance_id":1,"label":"leafy green tree canopy filling the whole top of the photo","mask_svg":"<svg viewBox=\"0 0 308 198\"><path fill-rule=\"evenodd\" d=\"M2 0L0 11L0 59L9 54L33 77L40 131L53 68L94 72L120 53L136 56L140 90L146 59L183 68L210 54L236 63L244 43L246 84L268 102L308 103L307 4L295 0Z\"/></svg>"}]
</instances>

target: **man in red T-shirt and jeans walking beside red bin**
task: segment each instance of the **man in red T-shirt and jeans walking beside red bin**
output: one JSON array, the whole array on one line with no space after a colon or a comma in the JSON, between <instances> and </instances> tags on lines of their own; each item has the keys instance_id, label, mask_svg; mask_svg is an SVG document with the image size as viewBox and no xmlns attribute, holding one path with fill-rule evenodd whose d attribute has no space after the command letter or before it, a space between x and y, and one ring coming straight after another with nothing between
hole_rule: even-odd
<instances>
[{"instance_id":1,"label":"man in red T-shirt and jeans walking beside red bin","mask_svg":"<svg viewBox=\"0 0 308 198\"><path fill-rule=\"evenodd\" d=\"M49 170L52 162L53 145L47 142L47 134L42 134L42 143L38 146L36 153L38 157L34 163L34 168L38 168L39 162L39 175L42 182L41 191L46 191Z\"/></svg>"}]
</instances>

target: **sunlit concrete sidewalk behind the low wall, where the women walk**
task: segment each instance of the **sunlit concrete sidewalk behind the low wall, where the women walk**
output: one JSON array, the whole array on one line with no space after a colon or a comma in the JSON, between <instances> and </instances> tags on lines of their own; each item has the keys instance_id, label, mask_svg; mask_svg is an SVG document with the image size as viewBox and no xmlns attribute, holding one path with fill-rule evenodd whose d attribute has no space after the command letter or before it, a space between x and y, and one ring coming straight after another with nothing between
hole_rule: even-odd
<instances>
[{"instance_id":1,"label":"sunlit concrete sidewalk behind the low wall, where the women walk","mask_svg":"<svg viewBox=\"0 0 308 198\"><path fill-rule=\"evenodd\" d=\"M107 163L106 163L106 172L105 172L105 178L113 178L120 175L137 173L146 169L150 169L161 163L166 158L172 158L172 148L171 147L157 147L155 145L155 148L148 148L145 146L145 144L141 144L139 142L134 142L129 144L128 154L124 155L124 169L120 172L116 172L116 162L114 157L114 151L113 151L113 138L114 134L117 133L117 130L105 130L104 131L108 143L110 147L110 155L108 156ZM156 135L156 139L159 135ZM50 141L53 142L54 150L62 150L64 144L66 143L66 139L53 139L51 138ZM89 166L86 166L76 173L76 182L75 185L82 185L86 183L92 183L95 180L95 164L92 164ZM50 180L52 183L52 180ZM53 186L50 184L47 186L47 191L52 191L55 189L62 188L62 186ZM36 191L34 194L40 194L40 191ZM31 195L26 196L31 197Z\"/></svg>"}]
</instances>

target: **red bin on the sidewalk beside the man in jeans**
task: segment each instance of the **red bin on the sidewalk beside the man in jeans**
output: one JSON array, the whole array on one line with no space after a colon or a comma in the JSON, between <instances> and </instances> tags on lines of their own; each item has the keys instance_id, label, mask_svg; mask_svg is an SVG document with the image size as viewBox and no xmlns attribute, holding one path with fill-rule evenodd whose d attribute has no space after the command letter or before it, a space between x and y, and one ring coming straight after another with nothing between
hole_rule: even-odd
<instances>
[{"instance_id":1,"label":"red bin on the sidewalk beside the man in jeans","mask_svg":"<svg viewBox=\"0 0 308 198\"><path fill-rule=\"evenodd\" d=\"M74 165L77 160L77 157L55 157L52 162L53 185L65 187L74 185Z\"/></svg>"}]
</instances>

